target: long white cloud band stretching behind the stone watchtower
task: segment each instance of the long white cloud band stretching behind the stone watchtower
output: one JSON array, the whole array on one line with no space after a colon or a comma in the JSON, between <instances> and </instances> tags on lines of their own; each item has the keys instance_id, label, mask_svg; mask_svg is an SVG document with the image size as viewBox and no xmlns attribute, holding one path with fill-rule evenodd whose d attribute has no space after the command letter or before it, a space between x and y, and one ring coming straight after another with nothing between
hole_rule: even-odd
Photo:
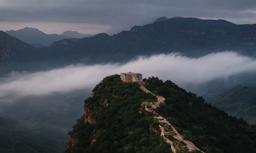
<instances>
[{"instance_id":1,"label":"long white cloud band stretching behind the stone watchtower","mask_svg":"<svg viewBox=\"0 0 256 153\"><path fill-rule=\"evenodd\" d=\"M104 77L121 72L139 72L143 78L159 77L179 86L202 84L230 75L256 71L256 61L233 52L189 58L180 54L139 57L126 64L70 65L50 71L12 72L0 80L0 103L7 97L47 95L77 89L93 89ZM7 98L7 99L6 99Z\"/></svg>"}]
</instances>

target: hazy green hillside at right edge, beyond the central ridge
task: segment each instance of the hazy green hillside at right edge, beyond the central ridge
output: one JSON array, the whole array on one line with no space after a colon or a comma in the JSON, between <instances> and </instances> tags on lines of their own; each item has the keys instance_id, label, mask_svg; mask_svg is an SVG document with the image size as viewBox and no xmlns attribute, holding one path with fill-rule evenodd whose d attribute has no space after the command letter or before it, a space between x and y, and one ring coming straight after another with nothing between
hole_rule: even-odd
<instances>
[{"instance_id":1,"label":"hazy green hillside at right edge, beyond the central ridge","mask_svg":"<svg viewBox=\"0 0 256 153\"><path fill-rule=\"evenodd\" d=\"M208 102L232 116L256 124L256 87L237 85Z\"/></svg>"}]
</instances>

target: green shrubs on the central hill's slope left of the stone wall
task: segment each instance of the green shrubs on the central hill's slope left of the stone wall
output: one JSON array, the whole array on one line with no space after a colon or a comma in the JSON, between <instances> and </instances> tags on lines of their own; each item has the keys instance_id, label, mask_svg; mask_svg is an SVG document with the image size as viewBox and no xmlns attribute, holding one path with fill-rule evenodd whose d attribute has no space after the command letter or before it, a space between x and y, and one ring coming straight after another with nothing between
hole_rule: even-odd
<instances>
[{"instance_id":1,"label":"green shrubs on the central hill's slope left of the stone wall","mask_svg":"<svg viewBox=\"0 0 256 153\"><path fill-rule=\"evenodd\" d=\"M93 92L84 103L96 123L78 119L65 152L171 152L162 137L148 130L151 123L158 127L158 121L139 113L141 103L155 96L140 90L138 83L122 82L120 75L104 78Z\"/></svg>"}]
</instances>

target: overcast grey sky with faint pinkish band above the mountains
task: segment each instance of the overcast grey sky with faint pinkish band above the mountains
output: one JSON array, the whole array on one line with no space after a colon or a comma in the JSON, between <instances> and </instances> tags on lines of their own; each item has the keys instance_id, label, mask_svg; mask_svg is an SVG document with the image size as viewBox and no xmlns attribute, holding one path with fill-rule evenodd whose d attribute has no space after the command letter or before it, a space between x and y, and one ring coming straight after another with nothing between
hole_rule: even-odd
<instances>
[{"instance_id":1,"label":"overcast grey sky with faint pinkish band above the mountains","mask_svg":"<svg viewBox=\"0 0 256 153\"><path fill-rule=\"evenodd\" d=\"M158 17L225 19L256 23L255 0L0 0L0 30L37 28L47 34L66 30L116 34Z\"/></svg>"}]
</instances>

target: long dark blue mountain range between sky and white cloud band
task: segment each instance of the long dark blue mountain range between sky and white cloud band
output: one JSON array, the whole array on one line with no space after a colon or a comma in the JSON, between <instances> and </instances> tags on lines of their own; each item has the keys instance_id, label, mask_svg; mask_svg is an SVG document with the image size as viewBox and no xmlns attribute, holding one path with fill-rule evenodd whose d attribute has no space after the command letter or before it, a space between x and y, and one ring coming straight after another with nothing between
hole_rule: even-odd
<instances>
[{"instance_id":1,"label":"long dark blue mountain range between sky and white cloud band","mask_svg":"<svg viewBox=\"0 0 256 153\"><path fill-rule=\"evenodd\" d=\"M62 39L52 42L49 47L30 46L27 50L22 47L16 52L30 52L32 53L29 54L30 58L16 57L9 62L19 61L18 64L22 65L23 61L35 60L38 63L46 63L44 66L34 63L33 66L25 69L30 70L30 68L47 69L74 63L122 63L136 56L172 52L179 52L189 57L200 57L212 52L232 50L255 57L255 31L256 24L238 25L225 20L175 17L143 26L134 26L130 31L122 31L113 36L102 33L81 39ZM0 37L6 41L7 37L11 38L4 33ZM15 40L13 37L12 39ZM9 48L15 45L11 43L12 40L8 39L8 41ZM3 45L0 47L4 48ZM1 56L4 55L1 54ZM8 63L8 60L5 63ZM23 70L15 66L4 66L4 68Z\"/></svg>"}]
</instances>

